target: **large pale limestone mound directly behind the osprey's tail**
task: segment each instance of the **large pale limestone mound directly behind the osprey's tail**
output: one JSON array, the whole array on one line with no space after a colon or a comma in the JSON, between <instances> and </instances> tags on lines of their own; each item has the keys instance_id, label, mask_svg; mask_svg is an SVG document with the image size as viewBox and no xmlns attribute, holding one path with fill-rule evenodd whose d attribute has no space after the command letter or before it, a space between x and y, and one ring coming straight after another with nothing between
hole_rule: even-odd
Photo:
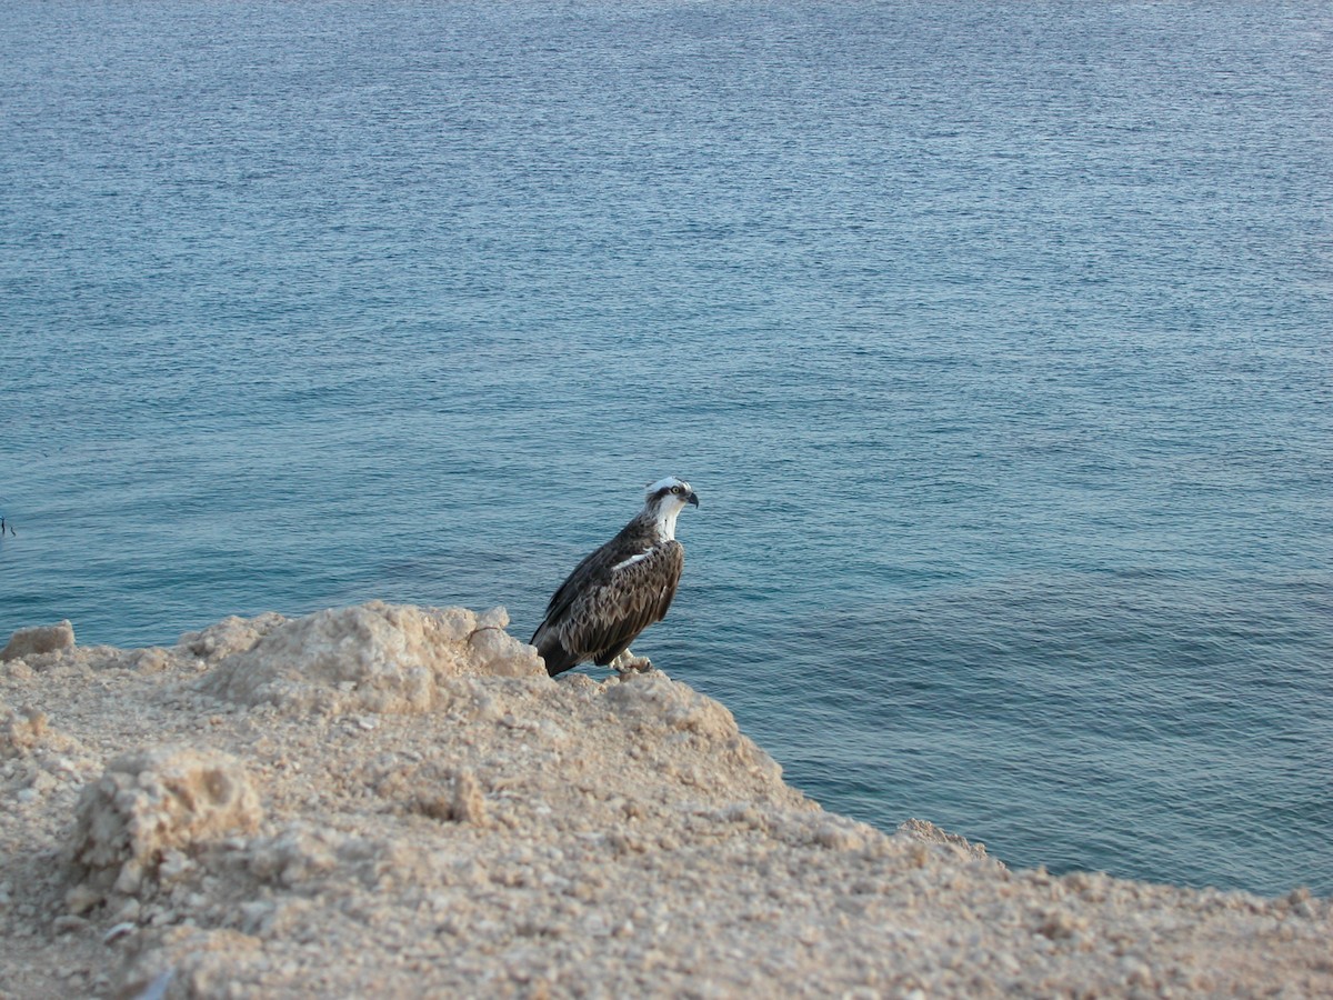
<instances>
[{"instance_id":1,"label":"large pale limestone mound directly behind the osprey's tail","mask_svg":"<svg viewBox=\"0 0 1333 1000\"><path fill-rule=\"evenodd\" d=\"M467 676L543 677L536 651L504 632L508 615L371 601L284 621L225 657L203 691L295 711L429 711L441 683Z\"/></svg>"}]
</instances>

